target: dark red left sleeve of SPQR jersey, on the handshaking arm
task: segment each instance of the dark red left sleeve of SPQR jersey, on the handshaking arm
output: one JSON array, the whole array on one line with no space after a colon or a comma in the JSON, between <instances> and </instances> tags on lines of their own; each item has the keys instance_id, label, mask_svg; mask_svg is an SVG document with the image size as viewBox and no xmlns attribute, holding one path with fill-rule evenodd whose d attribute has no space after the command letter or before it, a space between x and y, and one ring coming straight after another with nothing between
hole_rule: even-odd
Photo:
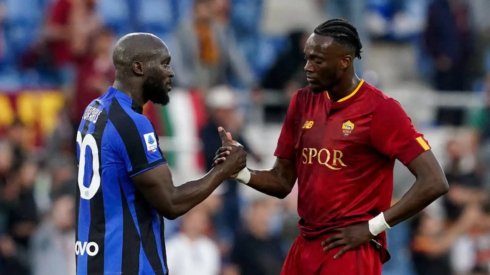
<instances>
[{"instance_id":1,"label":"dark red left sleeve of SPQR jersey, on the handshaking arm","mask_svg":"<svg viewBox=\"0 0 490 275\"><path fill-rule=\"evenodd\" d=\"M277 147L274 152L274 156L294 160L294 117L296 115L296 98L298 92L296 92L291 99L291 103L288 107L288 112L286 113L286 118L284 119L284 124L282 125L281 134L277 140Z\"/></svg>"}]
</instances>

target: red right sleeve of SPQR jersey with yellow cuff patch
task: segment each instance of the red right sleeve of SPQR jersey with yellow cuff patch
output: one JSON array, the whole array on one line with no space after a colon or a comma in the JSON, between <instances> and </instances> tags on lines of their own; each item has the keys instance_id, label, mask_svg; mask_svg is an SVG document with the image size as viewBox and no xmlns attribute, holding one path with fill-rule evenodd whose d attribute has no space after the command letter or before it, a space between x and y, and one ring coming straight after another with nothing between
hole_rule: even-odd
<instances>
[{"instance_id":1,"label":"red right sleeve of SPQR jersey with yellow cuff patch","mask_svg":"<svg viewBox=\"0 0 490 275\"><path fill-rule=\"evenodd\" d=\"M371 142L382 154L407 165L431 149L400 103L389 98L380 103L371 117Z\"/></svg>"}]
</instances>

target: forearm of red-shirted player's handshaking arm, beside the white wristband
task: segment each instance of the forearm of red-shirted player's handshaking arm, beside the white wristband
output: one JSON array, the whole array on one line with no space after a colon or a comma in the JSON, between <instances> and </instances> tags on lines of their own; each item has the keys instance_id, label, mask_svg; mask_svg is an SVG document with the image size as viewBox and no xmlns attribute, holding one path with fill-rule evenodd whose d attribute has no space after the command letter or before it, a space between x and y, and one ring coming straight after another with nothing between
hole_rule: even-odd
<instances>
[{"instance_id":1,"label":"forearm of red-shirted player's handshaking arm, beside the white wristband","mask_svg":"<svg viewBox=\"0 0 490 275\"><path fill-rule=\"evenodd\" d=\"M254 170L248 168L248 170L251 177L247 185L253 189L279 199L284 199L291 193L294 183L291 184L287 176L281 175L278 169Z\"/></svg>"}]
</instances>

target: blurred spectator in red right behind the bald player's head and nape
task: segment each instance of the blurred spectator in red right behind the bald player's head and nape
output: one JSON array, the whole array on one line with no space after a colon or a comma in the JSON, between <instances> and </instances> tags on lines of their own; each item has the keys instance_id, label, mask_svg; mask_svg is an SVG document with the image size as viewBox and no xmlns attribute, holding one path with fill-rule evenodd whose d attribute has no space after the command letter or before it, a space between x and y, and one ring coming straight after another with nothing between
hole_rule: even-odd
<instances>
[{"instance_id":1,"label":"blurred spectator in red right behind the bald player's head and nape","mask_svg":"<svg viewBox=\"0 0 490 275\"><path fill-rule=\"evenodd\" d=\"M75 132L85 108L92 100L107 92L107 88L114 83L116 75L112 64L115 36L111 30L100 29L92 39L83 44L84 51L76 56L78 68L73 100Z\"/></svg>"}]
</instances>

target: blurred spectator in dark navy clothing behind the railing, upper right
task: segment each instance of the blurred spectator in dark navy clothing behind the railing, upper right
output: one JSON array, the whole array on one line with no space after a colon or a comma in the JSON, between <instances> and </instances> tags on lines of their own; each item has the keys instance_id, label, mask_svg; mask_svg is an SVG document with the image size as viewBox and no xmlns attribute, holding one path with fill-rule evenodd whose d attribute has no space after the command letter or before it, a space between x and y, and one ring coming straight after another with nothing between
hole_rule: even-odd
<instances>
[{"instance_id":1,"label":"blurred spectator in dark navy clothing behind the railing, upper right","mask_svg":"<svg viewBox=\"0 0 490 275\"><path fill-rule=\"evenodd\" d=\"M472 18L467 0L434 0L429 6L425 44L435 64L434 88L470 91L470 59L474 52ZM441 107L440 125L461 125L463 109Z\"/></svg>"}]
</instances>

